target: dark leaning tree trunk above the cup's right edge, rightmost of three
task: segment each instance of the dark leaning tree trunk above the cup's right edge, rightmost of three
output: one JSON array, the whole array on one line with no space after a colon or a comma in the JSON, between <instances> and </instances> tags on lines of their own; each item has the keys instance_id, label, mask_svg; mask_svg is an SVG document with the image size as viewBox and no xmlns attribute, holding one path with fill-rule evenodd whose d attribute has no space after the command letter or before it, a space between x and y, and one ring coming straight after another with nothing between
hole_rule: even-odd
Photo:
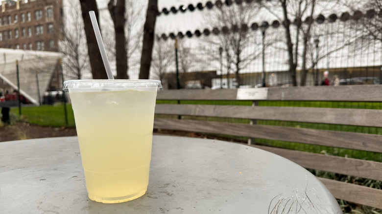
<instances>
[{"instance_id":1,"label":"dark leaning tree trunk above the cup's right edge, rightmost of three","mask_svg":"<svg viewBox=\"0 0 382 214\"><path fill-rule=\"evenodd\" d=\"M146 21L143 27L143 45L139 79L148 79L151 65L152 47L154 45L155 21L158 14L158 0L148 0Z\"/></svg>"}]
</instances>

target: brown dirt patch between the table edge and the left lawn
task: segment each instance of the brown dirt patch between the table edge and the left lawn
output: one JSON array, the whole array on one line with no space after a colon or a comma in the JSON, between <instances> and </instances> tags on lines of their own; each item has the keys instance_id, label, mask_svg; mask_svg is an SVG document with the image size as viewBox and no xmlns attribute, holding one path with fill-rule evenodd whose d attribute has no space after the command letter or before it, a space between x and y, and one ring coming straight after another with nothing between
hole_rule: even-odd
<instances>
[{"instance_id":1,"label":"brown dirt patch between the table edge and the left lawn","mask_svg":"<svg viewBox=\"0 0 382 214\"><path fill-rule=\"evenodd\" d=\"M31 125L18 122L15 125L0 127L0 142L12 140L25 140L44 137L76 136L75 128L54 128Z\"/></svg>"}]
</instances>

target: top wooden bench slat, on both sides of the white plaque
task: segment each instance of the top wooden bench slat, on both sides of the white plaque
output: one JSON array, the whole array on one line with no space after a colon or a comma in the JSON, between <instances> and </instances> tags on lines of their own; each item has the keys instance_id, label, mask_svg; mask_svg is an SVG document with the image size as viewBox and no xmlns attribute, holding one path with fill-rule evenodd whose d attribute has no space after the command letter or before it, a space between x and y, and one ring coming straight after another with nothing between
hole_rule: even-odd
<instances>
[{"instance_id":1,"label":"top wooden bench slat, on both sides of the white plaque","mask_svg":"<svg viewBox=\"0 0 382 214\"><path fill-rule=\"evenodd\" d=\"M158 100L236 100L238 89L158 91ZM269 87L267 100L382 102L382 85ZM349 92L351 91L351 92Z\"/></svg>"}]
</instances>

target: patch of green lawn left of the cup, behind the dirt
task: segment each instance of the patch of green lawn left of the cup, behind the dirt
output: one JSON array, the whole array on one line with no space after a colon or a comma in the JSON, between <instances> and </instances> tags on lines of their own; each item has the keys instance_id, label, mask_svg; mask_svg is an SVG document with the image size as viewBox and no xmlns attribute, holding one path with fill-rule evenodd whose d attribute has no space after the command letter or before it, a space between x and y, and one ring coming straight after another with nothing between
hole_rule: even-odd
<instances>
[{"instance_id":1,"label":"patch of green lawn left of the cup, behind the dirt","mask_svg":"<svg viewBox=\"0 0 382 214\"><path fill-rule=\"evenodd\" d=\"M22 107L22 118L30 124L49 127L75 127L72 105L67 104L68 125L65 124L64 105ZM19 114L18 108L12 108L11 112Z\"/></svg>"}]
</instances>

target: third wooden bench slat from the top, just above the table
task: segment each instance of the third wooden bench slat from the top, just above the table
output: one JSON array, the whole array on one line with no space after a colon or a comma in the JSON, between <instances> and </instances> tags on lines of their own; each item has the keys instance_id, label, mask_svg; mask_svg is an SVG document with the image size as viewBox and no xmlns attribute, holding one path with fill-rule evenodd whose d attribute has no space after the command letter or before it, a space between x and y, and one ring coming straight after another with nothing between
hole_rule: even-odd
<instances>
[{"instance_id":1,"label":"third wooden bench slat from the top, just above the table","mask_svg":"<svg viewBox=\"0 0 382 214\"><path fill-rule=\"evenodd\" d=\"M382 152L382 135L195 120L154 120L154 128L217 133L251 138Z\"/></svg>"}]
</instances>

